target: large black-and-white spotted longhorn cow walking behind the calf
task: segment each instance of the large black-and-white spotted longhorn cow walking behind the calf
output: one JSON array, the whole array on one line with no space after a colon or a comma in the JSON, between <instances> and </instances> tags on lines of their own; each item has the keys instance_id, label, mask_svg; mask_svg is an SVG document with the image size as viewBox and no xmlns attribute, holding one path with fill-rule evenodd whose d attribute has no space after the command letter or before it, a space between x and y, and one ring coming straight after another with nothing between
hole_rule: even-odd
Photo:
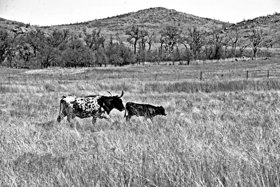
<instances>
[{"instance_id":1,"label":"large black-and-white spotted longhorn cow walking behind the calf","mask_svg":"<svg viewBox=\"0 0 280 187\"><path fill-rule=\"evenodd\" d=\"M109 92L110 93L110 92ZM111 94L111 93L110 93ZM92 116L92 124L95 124L97 118L104 118L111 121L109 113L113 108L123 111L125 110L121 96L62 96L60 100L60 113L57 117L57 122L60 122L65 116L67 121L75 117L86 118Z\"/></svg>"}]
</instances>

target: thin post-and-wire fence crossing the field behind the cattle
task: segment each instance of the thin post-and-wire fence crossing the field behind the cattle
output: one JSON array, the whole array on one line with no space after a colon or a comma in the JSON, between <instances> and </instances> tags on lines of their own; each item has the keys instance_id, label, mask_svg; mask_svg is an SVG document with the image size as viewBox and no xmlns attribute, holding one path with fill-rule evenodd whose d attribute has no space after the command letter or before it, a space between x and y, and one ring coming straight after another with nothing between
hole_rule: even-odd
<instances>
[{"instance_id":1,"label":"thin post-and-wire fence crossing the field behind the cattle","mask_svg":"<svg viewBox=\"0 0 280 187\"><path fill-rule=\"evenodd\" d=\"M210 79L253 79L253 78L279 78L280 74L275 70L246 70L246 71L195 71L195 72L174 72L174 73L48 73L48 74L13 74L2 73L2 81L74 81L74 80L113 80L113 79L126 79L129 81L181 81L186 79L198 79L200 81Z\"/></svg>"}]
</instances>

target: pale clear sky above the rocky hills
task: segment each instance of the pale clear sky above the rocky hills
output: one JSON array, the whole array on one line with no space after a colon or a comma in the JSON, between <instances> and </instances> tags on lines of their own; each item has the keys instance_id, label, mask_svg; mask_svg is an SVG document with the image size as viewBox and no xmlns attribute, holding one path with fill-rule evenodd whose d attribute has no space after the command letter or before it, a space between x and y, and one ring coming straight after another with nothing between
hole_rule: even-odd
<instances>
[{"instance_id":1,"label":"pale clear sky above the rocky hills","mask_svg":"<svg viewBox=\"0 0 280 187\"><path fill-rule=\"evenodd\" d=\"M237 23L243 19L280 13L280 0L0 0L0 17L25 24L51 26L153 7Z\"/></svg>"}]
</instances>

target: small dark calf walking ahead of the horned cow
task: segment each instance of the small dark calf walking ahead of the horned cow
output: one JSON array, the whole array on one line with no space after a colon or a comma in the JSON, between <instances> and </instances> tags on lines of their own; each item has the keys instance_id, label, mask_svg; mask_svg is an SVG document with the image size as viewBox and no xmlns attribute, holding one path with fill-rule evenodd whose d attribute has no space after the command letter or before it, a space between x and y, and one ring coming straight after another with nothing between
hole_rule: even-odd
<instances>
[{"instance_id":1,"label":"small dark calf walking ahead of the horned cow","mask_svg":"<svg viewBox=\"0 0 280 187\"><path fill-rule=\"evenodd\" d=\"M127 116L126 116L127 111ZM153 121L153 117L156 115L164 115L166 116L166 112L162 106L153 106L148 104L138 104L138 103L126 103L125 105L125 116L126 122L129 122L132 116L143 116L145 120L150 118Z\"/></svg>"}]
</instances>

